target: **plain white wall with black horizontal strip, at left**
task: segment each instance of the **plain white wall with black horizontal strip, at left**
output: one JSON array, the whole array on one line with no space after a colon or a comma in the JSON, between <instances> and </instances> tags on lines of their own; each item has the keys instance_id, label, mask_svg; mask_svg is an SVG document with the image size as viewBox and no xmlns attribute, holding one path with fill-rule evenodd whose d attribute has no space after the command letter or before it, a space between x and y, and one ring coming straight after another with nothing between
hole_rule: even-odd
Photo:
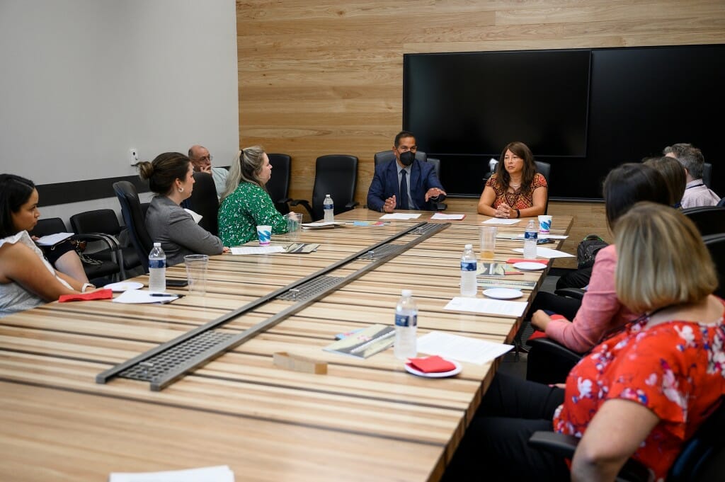
<instances>
[{"instance_id":1,"label":"plain white wall with black horizontal strip, at left","mask_svg":"<svg viewBox=\"0 0 725 482\"><path fill-rule=\"evenodd\" d=\"M132 175L130 148L152 160L196 143L228 165L239 149L235 8L0 0L0 172L37 184Z\"/></svg>"}]
</instances>

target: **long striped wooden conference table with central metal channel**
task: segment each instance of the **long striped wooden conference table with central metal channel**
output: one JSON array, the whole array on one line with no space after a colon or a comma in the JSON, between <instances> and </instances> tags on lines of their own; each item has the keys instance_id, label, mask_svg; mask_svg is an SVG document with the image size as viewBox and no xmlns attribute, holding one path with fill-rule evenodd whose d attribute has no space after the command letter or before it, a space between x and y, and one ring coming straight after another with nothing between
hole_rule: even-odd
<instances>
[{"instance_id":1,"label":"long striped wooden conference table with central metal channel","mask_svg":"<svg viewBox=\"0 0 725 482\"><path fill-rule=\"evenodd\" d=\"M364 360L323 351L337 333L394 324L402 288L418 303L418 336L513 341L523 317L444 309L459 294L463 245L478 252L489 217L431 214L355 225L381 217L358 208L336 217L347 225L302 230L299 242L320 244L310 254L210 257L206 296L166 304L52 302L0 319L0 480L104 481L114 472L211 465L228 465L236 481L439 480L500 358L463 362L454 377L423 378L407 373L393 349ZM526 221L499 231L523 233ZM96 383L99 373L421 222L446 226L159 391L129 378ZM555 216L552 233L567 233L571 223ZM273 244L289 241L273 236ZM517 247L523 242L500 239L496 259L522 257ZM369 263L355 259L337 275ZM538 288L544 274L517 277ZM167 268L167 278L185 277L183 266ZM223 330L239 333L293 303L272 299ZM279 367L278 352L326 363L327 373Z\"/></svg>"}]
</instances>

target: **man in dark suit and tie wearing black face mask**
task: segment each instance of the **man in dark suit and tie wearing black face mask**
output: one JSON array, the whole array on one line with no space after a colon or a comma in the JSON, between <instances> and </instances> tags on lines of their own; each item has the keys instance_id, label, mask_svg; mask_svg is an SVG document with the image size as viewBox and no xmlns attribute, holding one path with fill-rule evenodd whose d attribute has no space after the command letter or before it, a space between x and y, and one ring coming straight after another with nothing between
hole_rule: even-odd
<instances>
[{"instance_id":1,"label":"man in dark suit and tie wearing black face mask","mask_svg":"<svg viewBox=\"0 0 725 482\"><path fill-rule=\"evenodd\" d=\"M403 130L395 136L395 160L375 167L368 189L368 209L380 212L436 210L436 201L445 199L446 192L433 165L415 159L417 150L413 133Z\"/></svg>"}]
</instances>

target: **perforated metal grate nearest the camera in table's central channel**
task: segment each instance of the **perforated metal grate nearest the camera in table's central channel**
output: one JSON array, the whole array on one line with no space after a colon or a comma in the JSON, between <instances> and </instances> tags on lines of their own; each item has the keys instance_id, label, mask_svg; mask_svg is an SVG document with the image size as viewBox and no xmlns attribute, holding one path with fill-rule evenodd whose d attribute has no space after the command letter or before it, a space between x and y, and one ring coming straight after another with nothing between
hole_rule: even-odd
<instances>
[{"instance_id":1,"label":"perforated metal grate nearest the camera in table's central channel","mask_svg":"<svg viewBox=\"0 0 725 482\"><path fill-rule=\"evenodd\" d=\"M133 378L133 380L152 381L196 355L228 341L233 336L233 333L223 333L222 331L204 331L144 362L138 362L136 365L128 367L119 373L119 376Z\"/></svg>"}]
</instances>

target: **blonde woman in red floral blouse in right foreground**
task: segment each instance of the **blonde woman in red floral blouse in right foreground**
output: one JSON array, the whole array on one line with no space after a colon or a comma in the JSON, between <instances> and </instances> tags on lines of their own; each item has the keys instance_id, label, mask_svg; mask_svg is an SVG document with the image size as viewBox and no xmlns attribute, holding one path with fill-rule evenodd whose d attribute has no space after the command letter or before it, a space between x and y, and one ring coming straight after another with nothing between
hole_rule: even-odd
<instances>
[{"instance_id":1,"label":"blonde woman in red floral blouse in right foreground","mask_svg":"<svg viewBox=\"0 0 725 482\"><path fill-rule=\"evenodd\" d=\"M617 221L616 246L617 296L645 315L595 346L565 390L497 375L454 470L478 465L469 480L480 480L481 467L496 463L511 467L508 480L566 478L563 460L526 444L542 426L552 430L553 418L553 430L581 437L571 480L613 481L634 457L664 481L684 441L718 407L725 302L712 294L717 276L699 231L676 209L640 202ZM486 480L497 479L486 472Z\"/></svg>"}]
</instances>

